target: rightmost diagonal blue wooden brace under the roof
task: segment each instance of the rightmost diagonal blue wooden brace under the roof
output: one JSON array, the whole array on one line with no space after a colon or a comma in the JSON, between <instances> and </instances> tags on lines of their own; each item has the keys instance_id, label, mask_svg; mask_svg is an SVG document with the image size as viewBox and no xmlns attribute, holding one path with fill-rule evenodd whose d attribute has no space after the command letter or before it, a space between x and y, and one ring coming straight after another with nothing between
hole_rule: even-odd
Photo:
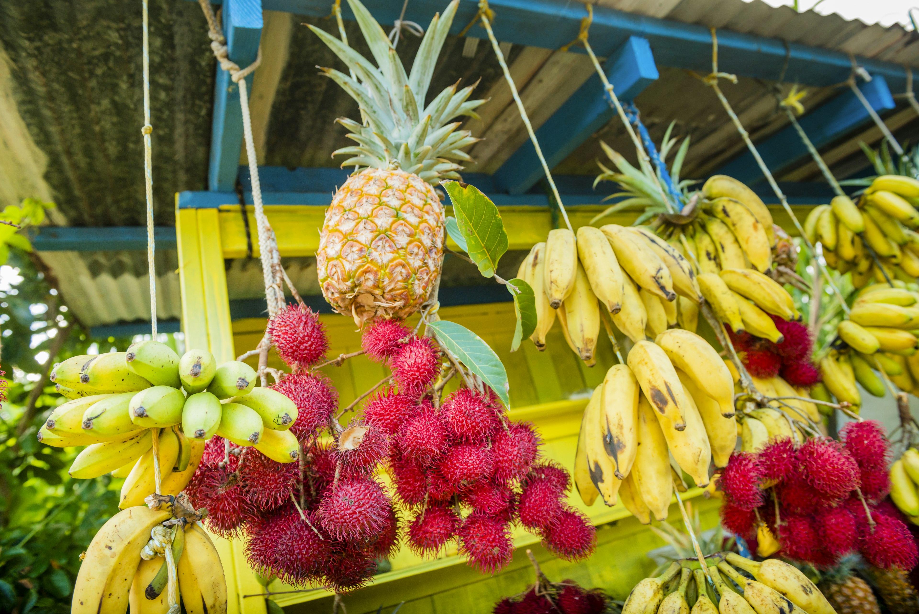
<instances>
[{"instance_id":1,"label":"rightmost diagonal blue wooden brace under the roof","mask_svg":"<svg viewBox=\"0 0 919 614\"><path fill-rule=\"evenodd\" d=\"M882 75L874 75L868 83L858 86L865 98L878 112L893 109L896 105L891 90ZM839 96L806 113L798 121L813 145L818 149L828 145L846 133L871 121L868 110L859 102L851 90L845 89ZM791 168L800 162L810 160L807 147L801 142L794 126L788 126L756 144L766 167L775 173ZM712 174L728 175L744 183L765 180L762 171L750 152L735 157Z\"/></svg>"}]
</instances>

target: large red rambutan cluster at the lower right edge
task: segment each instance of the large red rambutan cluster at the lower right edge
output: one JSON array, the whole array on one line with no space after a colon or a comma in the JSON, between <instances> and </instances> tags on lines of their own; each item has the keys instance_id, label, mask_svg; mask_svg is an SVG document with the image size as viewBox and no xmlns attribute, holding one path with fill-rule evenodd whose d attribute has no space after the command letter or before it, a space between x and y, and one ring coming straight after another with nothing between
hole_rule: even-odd
<instances>
[{"instance_id":1,"label":"large red rambutan cluster at the lower right edge","mask_svg":"<svg viewBox=\"0 0 919 614\"><path fill-rule=\"evenodd\" d=\"M876 567L913 569L919 553L909 529L881 501L890 490L882 428L849 423L840 436L842 442L779 439L757 454L734 452L719 480L722 526L755 539L766 523L785 556L817 567L858 551Z\"/></svg>"}]
</instances>

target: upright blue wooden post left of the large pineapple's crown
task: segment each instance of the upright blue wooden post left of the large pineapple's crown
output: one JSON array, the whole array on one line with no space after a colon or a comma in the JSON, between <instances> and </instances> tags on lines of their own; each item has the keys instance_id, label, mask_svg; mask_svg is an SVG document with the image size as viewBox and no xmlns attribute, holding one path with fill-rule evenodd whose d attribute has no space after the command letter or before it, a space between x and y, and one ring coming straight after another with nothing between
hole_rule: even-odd
<instances>
[{"instance_id":1,"label":"upright blue wooden post left of the large pineapple's crown","mask_svg":"<svg viewBox=\"0 0 919 614\"><path fill-rule=\"evenodd\" d=\"M255 62L262 37L261 0L226 0L222 11L223 35L230 59L240 68ZM252 92L252 77L245 78ZM251 94L250 94L251 96ZM214 86L214 116L210 137L210 190L233 191L243 146L243 111L239 106L239 86L230 73L217 65Z\"/></svg>"}]
</instances>

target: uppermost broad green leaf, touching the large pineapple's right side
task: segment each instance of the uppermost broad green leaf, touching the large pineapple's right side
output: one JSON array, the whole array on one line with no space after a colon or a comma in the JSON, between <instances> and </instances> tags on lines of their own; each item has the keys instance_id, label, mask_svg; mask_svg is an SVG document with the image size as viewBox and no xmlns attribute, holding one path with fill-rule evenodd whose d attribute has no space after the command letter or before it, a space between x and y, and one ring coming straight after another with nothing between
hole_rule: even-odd
<instances>
[{"instance_id":1,"label":"uppermost broad green leaf, touching the large pineapple's right side","mask_svg":"<svg viewBox=\"0 0 919 614\"><path fill-rule=\"evenodd\" d=\"M453 201L459 232L466 237L466 253L483 277L494 276L498 261L507 251L505 223L498 208L475 186L459 181L441 185Z\"/></svg>"}]
</instances>

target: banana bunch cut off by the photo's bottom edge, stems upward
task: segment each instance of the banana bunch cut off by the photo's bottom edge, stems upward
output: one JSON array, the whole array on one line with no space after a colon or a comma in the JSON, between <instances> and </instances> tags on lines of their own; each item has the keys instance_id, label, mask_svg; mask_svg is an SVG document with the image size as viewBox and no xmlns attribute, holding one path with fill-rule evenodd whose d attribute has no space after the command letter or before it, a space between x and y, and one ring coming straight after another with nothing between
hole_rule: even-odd
<instances>
[{"instance_id":1,"label":"banana bunch cut off by the photo's bottom edge, stems upward","mask_svg":"<svg viewBox=\"0 0 919 614\"><path fill-rule=\"evenodd\" d=\"M787 562L754 562L734 552L719 552L707 556L706 563L714 586L709 585L698 561L675 561L661 575L635 585L622 606L622 614L670 614L689 612L690 608L699 614L834 614L817 586Z\"/></svg>"}]
</instances>

